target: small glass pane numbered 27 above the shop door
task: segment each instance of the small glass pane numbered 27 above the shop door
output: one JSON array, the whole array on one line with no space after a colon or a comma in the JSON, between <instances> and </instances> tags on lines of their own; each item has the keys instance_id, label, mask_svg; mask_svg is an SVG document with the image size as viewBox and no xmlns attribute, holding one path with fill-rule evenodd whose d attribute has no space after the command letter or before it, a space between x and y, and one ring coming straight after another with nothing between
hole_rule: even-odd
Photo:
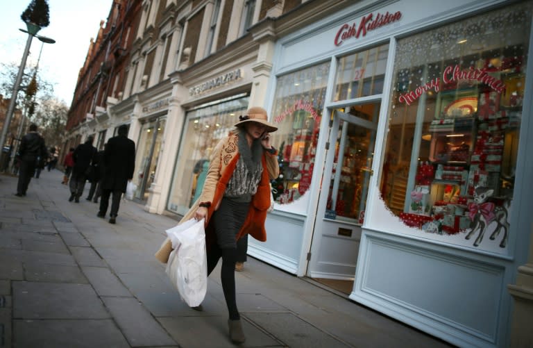
<instances>
[{"instance_id":1,"label":"small glass pane numbered 27 above the shop door","mask_svg":"<svg viewBox=\"0 0 533 348\"><path fill-rule=\"evenodd\" d=\"M381 94L389 44L339 58L334 100L355 99Z\"/></svg>"}]
</instances>

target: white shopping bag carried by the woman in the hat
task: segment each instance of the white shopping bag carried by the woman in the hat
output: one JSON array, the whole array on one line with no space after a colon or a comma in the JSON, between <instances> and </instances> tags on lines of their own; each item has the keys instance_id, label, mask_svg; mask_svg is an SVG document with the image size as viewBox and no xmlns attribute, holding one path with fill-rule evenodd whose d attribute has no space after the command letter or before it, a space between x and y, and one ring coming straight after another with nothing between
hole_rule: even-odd
<instances>
[{"instance_id":1,"label":"white shopping bag carried by the woman in the hat","mask_svg":"<svg viewBox=\"0 0 533 348\"><path fill-rule=\"evenodd\" d=\"M208 260L203 224L204 219L190 219L166 231L173 250L165 272L190 307L199 306L208 291Z\"/></svg>"}]
</instances>

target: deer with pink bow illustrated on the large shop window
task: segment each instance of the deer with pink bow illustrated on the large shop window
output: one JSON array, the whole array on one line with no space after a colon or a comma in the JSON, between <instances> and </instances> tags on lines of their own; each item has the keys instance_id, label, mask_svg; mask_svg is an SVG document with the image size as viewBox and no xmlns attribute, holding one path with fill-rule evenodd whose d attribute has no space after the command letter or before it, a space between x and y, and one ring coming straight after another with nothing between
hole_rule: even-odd
<instances>
[{"instance_id":1,"label":"deer with pink bow illustrated on the large shop window","mask_svg":"<svg viewBox=\"0 0 533 348\"><path fill-rule=\"evenodd\" d=\"M470 232L466 235L466 239L479 231L477 238L475 238L474 247L480 245L483 235L487 227L496 222L496 229L490 236L491 240L496 239L500 234L501 229L504 230L500 247L505 248L507 245L507 236L509 234L509 222L507 217L509 215L507 208L509 208L509 200L506 199L502 206L497 206L490 201L494 190L489 188L477 187L474 190L474 201L468 204L468 216L472 220L470 223Z\"/></svg>"}]
</instances>

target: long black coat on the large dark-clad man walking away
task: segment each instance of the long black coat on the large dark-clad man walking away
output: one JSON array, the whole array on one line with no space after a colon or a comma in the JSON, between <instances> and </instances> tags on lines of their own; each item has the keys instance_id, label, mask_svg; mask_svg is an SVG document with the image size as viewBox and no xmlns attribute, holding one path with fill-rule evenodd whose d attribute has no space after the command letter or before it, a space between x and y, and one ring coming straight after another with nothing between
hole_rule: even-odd
<instances>
[{"instance_id":1,"label":"long black coat on the large dark-clad man walking away","mask_svg":"<svg viewBox=\"0 0 533 348\"><path fill-rule=\"evenodd\" d=\"M135 169L135 142L126 135L110 138L103 152L103 165L102 188L126 192L126 185L128 180L133 179Z\"/></svg>"}]
</instances>

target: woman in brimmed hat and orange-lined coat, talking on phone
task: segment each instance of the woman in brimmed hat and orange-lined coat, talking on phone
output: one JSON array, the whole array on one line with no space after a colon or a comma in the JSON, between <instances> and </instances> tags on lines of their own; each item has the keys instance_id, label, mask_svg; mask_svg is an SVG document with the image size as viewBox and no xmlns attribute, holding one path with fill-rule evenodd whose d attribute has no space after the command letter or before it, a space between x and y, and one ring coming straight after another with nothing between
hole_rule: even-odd
<instances>
[{"instance_id":1,"label":"woman in brimmed hat and orange-lined coat, talking on phone","mask_svg":"<svg viewBox=\"0 0 533 348\"><path fill-rule=\"evenodd\" d=\"M270 207L270 180L280 171L269 135L277 127L267 119L267 111L258 107L239 116L235 131L213 149L202 193L181 220L205 218L208 275L222 258L221 283L229 337L234 343L246 340L235 298L237 240L248 233L262 242L267 240L264 220ZM155 256L167 263L171 248L171 242L165 240ZM193 309L203 310L202 306Z\"/></svg>"}]
</instances>

